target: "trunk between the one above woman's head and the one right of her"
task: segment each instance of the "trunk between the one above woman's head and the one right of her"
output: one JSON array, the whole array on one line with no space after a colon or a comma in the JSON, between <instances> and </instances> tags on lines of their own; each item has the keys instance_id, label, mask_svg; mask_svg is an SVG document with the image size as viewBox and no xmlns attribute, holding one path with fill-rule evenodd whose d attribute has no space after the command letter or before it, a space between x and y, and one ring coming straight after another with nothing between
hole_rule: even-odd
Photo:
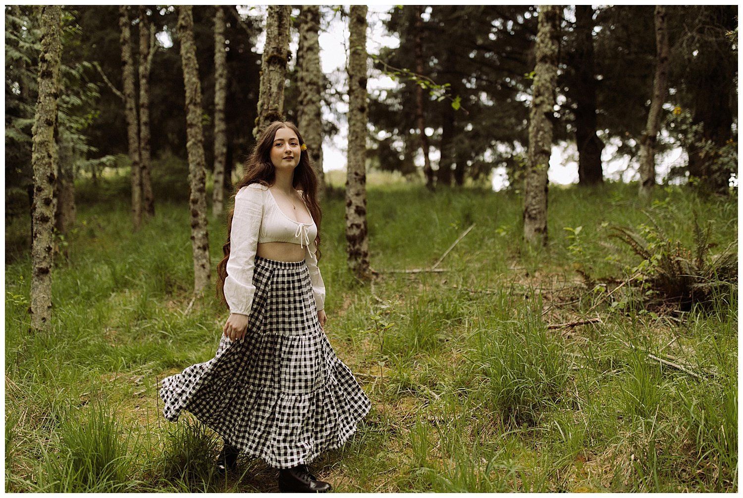
<instances>
[{"instance_id":1,"label":"trunk between the one above woman's head and the one right of her","mask_svg":"<svg viewBox=\"0 0 743 498\"><path fill-rule=\"evenodd\" d=\"M320 68L319 5L303 5L299 15L299 131L307 143L307 152L317 174L317 194L325 195L322 171L322 69Z\"/></svg>"}]
</instances>

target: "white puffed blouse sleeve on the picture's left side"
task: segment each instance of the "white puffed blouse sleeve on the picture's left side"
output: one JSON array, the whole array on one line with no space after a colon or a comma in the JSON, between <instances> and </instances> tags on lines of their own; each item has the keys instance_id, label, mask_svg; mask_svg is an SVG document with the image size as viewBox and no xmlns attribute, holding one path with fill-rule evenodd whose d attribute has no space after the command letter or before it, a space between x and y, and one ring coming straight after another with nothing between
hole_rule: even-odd
<instances>
[{"instance_id":1,"label":"white puffed blouse sleeve on the picture's left side","mask_svg":"<svg viewBox=\"0 0 743 498\"><path fill-rule=\"evenodd\" d=\"M256 267L258 236L263 218L265 186L251 183L235 196L235 214L230 231L230 259L224 279L224 299L230 312L250 315L253 305L253 269Z\"/></svg>"}]
</instances>

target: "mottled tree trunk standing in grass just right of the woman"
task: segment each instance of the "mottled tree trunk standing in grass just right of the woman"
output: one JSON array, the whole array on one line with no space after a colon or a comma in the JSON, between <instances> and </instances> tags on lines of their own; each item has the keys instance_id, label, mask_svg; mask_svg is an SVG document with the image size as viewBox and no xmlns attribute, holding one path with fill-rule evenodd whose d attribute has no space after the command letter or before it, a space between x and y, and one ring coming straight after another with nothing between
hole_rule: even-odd
<instances>
[{"instance_id":1,"label":"mottled tree trunk standing in grass just right of the woman","mask_svg":"<svg viewBox=\"0 0 743 498\"><path fill-rule=\"evenodd\" d=\"M348 174L345 180L345 240L348 267L371 278L366 229L366 5L351 5L348 56Z\"/></svg>"}]
</instances>

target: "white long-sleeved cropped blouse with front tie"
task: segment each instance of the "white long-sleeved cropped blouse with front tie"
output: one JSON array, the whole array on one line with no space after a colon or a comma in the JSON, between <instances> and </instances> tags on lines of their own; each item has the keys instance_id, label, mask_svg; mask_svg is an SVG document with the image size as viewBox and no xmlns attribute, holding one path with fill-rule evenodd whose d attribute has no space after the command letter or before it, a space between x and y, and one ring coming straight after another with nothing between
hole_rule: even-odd
<instances>
[{"instance_id":1,"label":"white long-sleeved cropped blouse with front tie","mask_svg":"<svg viewBox=\"0 0 743 498\"><path fill-rule=\"evenodd\" d=\"M253 269L258 244L291 242L305 248L317 310L325 309L325 284L317 267L317 225L292 220L279 208L267 186L251 183L235 196L235 214L230 232L230 258L224 279L224 298L230 312L249 315L256 287Z\"/></svg>"}]
</instances>

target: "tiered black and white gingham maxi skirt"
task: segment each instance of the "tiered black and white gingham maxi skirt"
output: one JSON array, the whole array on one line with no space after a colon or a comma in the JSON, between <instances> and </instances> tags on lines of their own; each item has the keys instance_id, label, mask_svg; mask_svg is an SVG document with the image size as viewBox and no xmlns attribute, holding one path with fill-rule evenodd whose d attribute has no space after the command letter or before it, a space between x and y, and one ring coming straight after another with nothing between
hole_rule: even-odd
<instances>
[{"instance_id":1,"label":"tiered black and white gingham maxi skirt","mask_svg":"<svg viewBox=\"0 0 743 498\"><path fill-rule=\"evenodd\" d=\"M312 462L354 433L371 403L317 319L304 261L256 257L256 294L242 341L163 379L163 414L187 410L231 445L276 468Z\"/></svg>"}]
</instances>

